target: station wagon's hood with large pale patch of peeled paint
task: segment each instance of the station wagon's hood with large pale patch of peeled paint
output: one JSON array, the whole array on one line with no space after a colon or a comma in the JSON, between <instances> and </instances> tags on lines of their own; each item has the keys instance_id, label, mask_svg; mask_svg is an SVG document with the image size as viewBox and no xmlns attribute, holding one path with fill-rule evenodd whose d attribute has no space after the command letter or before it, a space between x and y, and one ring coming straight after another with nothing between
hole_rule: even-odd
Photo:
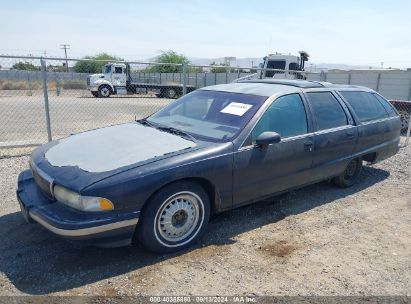
<instances>
[{"instance_id":1,"label":"station wagon's hood with large pale patch of peeled paint","mask_svg":"<svg viewBox=\"0 0 411 304\"><path fill-rule=\"evenodd\" d=\"M50 142L32 154L55 183L81 189L120 172L198 149L197 143L138 123L79 133Z\"/></svg>"}]
</instances>

